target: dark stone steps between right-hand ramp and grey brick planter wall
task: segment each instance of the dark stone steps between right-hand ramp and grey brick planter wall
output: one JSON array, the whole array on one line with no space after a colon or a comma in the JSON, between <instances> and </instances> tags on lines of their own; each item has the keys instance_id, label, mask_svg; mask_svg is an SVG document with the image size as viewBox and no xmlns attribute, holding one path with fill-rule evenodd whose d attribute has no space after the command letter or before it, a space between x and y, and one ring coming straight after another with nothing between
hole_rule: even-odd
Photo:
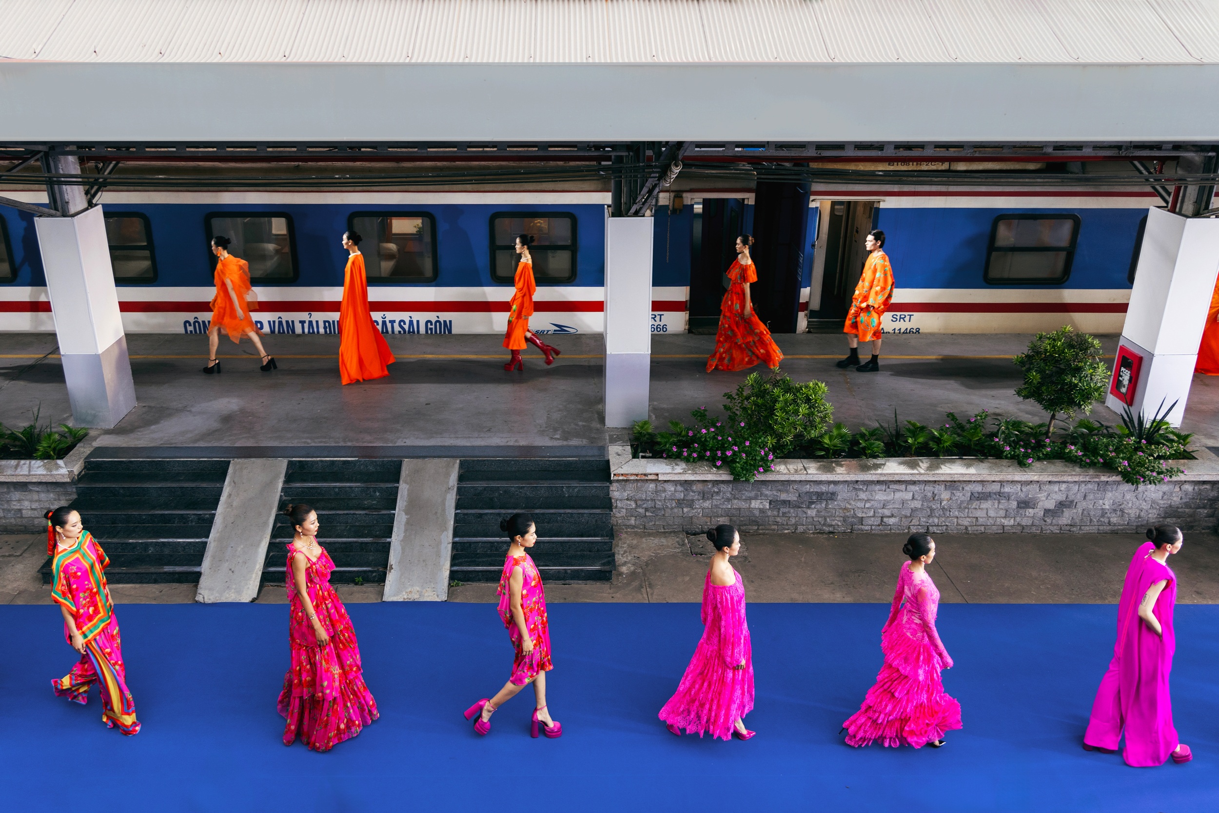
<instances>
[{"instance_id":1,"label":"dark stone steps between right-hand ramp and grey brick planter wall","mask_svg":"<svg viewBox=\"0 0 1219 813\"><path fill-rule=\"evenodd\" d=\"M610 461L463 460L450 579L499 581L508 540L500 520L533 516L538 544L529 551L549 581L610 581L613 524Z\"/></svg>"}]
</instances>

